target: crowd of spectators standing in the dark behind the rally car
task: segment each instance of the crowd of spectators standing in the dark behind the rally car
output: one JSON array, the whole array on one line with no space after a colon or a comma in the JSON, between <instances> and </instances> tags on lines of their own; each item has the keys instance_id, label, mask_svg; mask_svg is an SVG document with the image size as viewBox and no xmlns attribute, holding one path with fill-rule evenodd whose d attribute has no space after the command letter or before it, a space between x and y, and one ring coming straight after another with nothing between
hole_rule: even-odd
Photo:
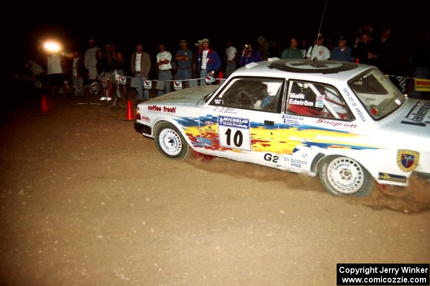
<instances>
[{"instance_id":1,"label":"crowd of spectators standing in the dark behind the rally car","mask_svg":"<svg viewBox=\"0 0 430 286\"><path fill-rule=\"evenodd\" d=\"M105 43L104 48L99 48L95 39L90 39L83 57L77 50L62 55L43 54L38 47L25 67L31 77L48 83L53 98L58 87L67 94L66 83L73 87L68 93L83 96L84 86L93 82L100 82L99 92L102 92L103 98L106 98L105 94L108 94L109 98L113 91L118 99L121 99L122 95L127 97L126 87L122 86L121 95L121 85L112 76L116 73L139 79L137 99L144 101L149 99L149 92L144 90L142 81L151 79L151 76L154 76L152 79L156 77L159 81L166 81L164 90L157 92L159 96L170 92L171 85L167 81L183 80L183 87L187 88L189 83L186 80L199 78L200 85L205 85L207 77L217 77L220 71L225 72L225 77L229 77L239 67L274 57L355 62L376 66L385 73L391 72L390 56L393 52L390 47L390 33L390 29L384 27L380 38L374 40L373 29L367 25L360 28L354 39L339 35L335 41L329 38L325 42L324 36L318 34L311 45L308 45L305 38L283 39L281 43L288 42L288 46L282 46L277 41L260 35L255 42L249 41L243 46L235 46L234 41L229 39L225 49L219 49L218 46L212 48L207 38L195 43L180 40L176 48L167 48L165 43L159 43L159 52L156 55L145 52L144 49L148 47L139 42L135 46L135 52L130 55L130 61L125 60L127 55L118 50L115 44ZM427 32L410 55L411 76L428 78L429 53ZM96 94L97 92L94 93Z\"/></svg>"}]
</instances>

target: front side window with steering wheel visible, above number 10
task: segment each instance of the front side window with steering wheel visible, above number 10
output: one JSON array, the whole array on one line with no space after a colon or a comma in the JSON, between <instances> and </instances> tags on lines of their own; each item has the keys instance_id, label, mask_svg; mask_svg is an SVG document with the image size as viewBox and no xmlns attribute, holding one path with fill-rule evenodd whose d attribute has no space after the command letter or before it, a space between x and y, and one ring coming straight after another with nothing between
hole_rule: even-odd
<instances>
[{"instance_id":1,"label":"front side window with steering wheel visible, above number 10","mask_svg":"<svg viewBox=\"0 0 430 286\"><path fill-rule=\"evenodd\" d=\"M211 105L280 112L284 80L269 78L238 78L213 98Z\"/></svg>"}]
</instances>

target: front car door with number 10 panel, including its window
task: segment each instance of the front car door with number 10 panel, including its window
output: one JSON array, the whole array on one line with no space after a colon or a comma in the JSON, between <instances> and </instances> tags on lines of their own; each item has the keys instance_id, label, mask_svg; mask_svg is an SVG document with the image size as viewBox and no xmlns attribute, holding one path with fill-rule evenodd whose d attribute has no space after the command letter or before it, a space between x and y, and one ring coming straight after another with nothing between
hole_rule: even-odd
<instances>
[{"instance_id":1,"label":"front car door with number 10 panel, including its window","mask_svg":"<svg viewBox=\"0 0 430 286\"><path fill-rule=\"evenodd\" d=\"M262 165L279 164L284 83L279 78L231 79L200 111L204 152Z\"/></svg>"}]
</instances>

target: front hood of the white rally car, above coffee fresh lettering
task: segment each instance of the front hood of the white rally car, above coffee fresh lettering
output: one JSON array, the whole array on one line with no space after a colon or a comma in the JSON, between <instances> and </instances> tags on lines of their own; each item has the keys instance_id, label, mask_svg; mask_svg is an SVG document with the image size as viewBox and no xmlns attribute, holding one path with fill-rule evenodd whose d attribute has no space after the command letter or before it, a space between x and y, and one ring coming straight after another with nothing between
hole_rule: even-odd
<instances>
[{"instance_id":1,"label":"front hood of the white rally car, above coffee fresh lettering","mask_svg":"<svg viewBox=\"0 0 430 286\"><path fill-rule=\"evenodd\" d=\"M206 85L194 88L186 88L170 92L145 102L145 104L197 104L202 97L213 92L219 85Z\"/></svg>"}]
</instances>

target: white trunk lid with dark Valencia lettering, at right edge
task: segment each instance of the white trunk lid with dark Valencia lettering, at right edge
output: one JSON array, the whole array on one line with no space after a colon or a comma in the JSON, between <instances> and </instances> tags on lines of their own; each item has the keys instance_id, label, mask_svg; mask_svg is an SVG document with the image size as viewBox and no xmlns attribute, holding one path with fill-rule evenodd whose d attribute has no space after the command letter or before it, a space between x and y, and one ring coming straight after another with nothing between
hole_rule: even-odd
<instances>
[{"instance_id":1,"label":"white trunk lid with dark Valencia lettering, at right edge","mask_svg":"<svg viewBox=\"0 0 430 286\"><path fill-rule=\"evenodd\" d=\"M430 138L430 101L407 98L402 107L378 122L378 125Z\"/></svg>"}]
</instances>

